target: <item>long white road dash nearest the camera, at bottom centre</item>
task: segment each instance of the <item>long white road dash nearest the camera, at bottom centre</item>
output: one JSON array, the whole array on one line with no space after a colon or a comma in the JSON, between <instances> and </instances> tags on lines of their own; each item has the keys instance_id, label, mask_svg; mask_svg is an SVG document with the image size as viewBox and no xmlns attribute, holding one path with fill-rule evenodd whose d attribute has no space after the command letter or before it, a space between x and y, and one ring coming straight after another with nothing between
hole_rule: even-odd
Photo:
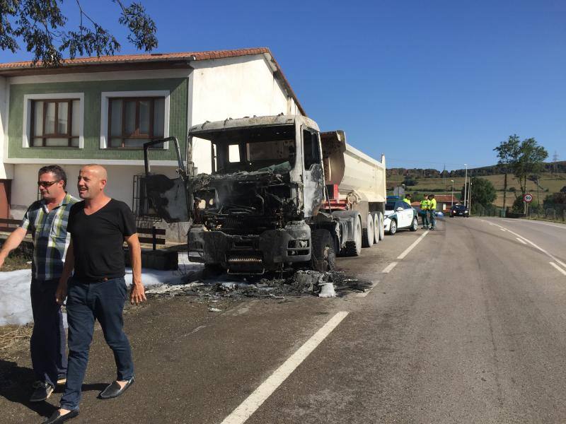
<instances>
[{"instance_id":1,"label":"long white road dash nearest the camera, at bottom centre","mask_svg":"<svg viewBox=\"0 0 566 424\"><path fill-rule=\"evenodd\" d=\"M342 319L345 319L348 312L338 312L334 317L330 319L326 324L324 324L316 333L309 338L303 346L299 348L298 351L293 353L289 359L287 359L283 365L281 365L275 372L273 372L270 377L268 377L265 382L260 384L260 387L255 389L248 398L241 403L238 408L234 409L232 413L224 418L221 424L241 424L245 423L252 414L258 410L258 408L263 404L263 402L271 396L271 394L279 387L282 382L291 375L296 367L301 365L301 363L306 359L306 357L316 349L316 347L322 342L328 334L330 334L333 329L336 328Z\"/></svg>"}]
</instances>

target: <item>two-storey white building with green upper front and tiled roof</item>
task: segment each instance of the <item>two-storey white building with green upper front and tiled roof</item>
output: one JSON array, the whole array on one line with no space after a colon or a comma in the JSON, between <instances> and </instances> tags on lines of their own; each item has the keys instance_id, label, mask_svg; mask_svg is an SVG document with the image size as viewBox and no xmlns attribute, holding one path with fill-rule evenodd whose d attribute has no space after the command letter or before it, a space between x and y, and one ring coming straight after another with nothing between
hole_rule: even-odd
<instances>
[{"instance_id":1,"label":"two-storey white building with green upper front and tiled roof","mask_svg":"<svg viewBox=\"0 0 566 424\"><path fill-rule=\"evenodd\" d=\"M279 113L304 110L267 48L0 64L0 218L23 216L50 164L64 167L74 196L81 165L104 165L108 194L135 208L144 141L175 136L184 151L192 125ZM207 141L193 157L210 171ZM175 174L173 146L151 158L155 172Z\"/></svg>"}]
</instances>

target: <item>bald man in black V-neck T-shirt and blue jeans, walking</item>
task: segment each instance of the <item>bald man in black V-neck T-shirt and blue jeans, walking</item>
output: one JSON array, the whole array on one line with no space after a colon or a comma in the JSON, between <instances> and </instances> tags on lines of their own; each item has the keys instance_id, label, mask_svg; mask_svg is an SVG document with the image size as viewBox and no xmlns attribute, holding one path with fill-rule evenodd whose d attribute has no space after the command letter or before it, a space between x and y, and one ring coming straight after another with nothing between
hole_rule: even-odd
<instances>
[{"instance_id":1,"label":"bald man in black V-neck T-shirt and blue jeans, walking","mask_svg":"<svg viewBox=\"0 0 566 424\"><path fill-rule=\"evenodd\" d=\"M133 284L132 304L146 300L141 283L141 250L136 221L129 207L104 192L106 170L100 165L81 168L77 188L79 201L71 207L67 231L71 244L57 288L57 302L67 296L69 322L69 365L67 387L61 406L44 424L64 423L79 415L81 386L88 363L88 350L98 319L104 338L114 353L117 377L98 395L99 399L120 396L134 382L134 364L123 329L122 310L127 298L123 242L129 246ZM71 271L74 275L69 280Z\"/></svg>"}]
</instances>

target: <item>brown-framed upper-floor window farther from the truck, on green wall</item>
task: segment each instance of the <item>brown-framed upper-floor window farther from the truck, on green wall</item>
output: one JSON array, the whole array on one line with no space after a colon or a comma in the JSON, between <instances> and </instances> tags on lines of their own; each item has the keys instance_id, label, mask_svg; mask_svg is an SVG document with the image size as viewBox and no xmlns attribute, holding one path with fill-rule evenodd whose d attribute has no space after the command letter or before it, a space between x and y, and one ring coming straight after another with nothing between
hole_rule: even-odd
<instances>
[{"instance_id":1,"label":"brown-framed upper-floor window farther from the truck, on green wall","mask_svg":"<svg viewBox=\"0 0 566 424\"><path fill-rule=\"evenodd\" d=\"M79 147L80 107L79 99L31 100L30 146Z\"/></svg>"}]
</instances>

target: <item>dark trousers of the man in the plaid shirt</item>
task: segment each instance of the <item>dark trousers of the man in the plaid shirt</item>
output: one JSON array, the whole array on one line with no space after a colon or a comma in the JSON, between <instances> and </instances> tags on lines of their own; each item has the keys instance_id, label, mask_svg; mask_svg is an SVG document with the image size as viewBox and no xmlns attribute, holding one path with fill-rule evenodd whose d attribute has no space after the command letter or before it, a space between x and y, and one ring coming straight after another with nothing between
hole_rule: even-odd
<instances>
[{"instance_id":1,"label":"dark trousers of the man in the plaid shirt","mask_svg":"<svg viewBox=\"0 0 566 424\"><path fill-rule=\"evenodd\" d=\"M30 354L35 378L57 385L57 377L67 374L65 329L61 307L55 302L59 278L36 280L30 286L33 332Z\"/></svg>"}]
</instances>

